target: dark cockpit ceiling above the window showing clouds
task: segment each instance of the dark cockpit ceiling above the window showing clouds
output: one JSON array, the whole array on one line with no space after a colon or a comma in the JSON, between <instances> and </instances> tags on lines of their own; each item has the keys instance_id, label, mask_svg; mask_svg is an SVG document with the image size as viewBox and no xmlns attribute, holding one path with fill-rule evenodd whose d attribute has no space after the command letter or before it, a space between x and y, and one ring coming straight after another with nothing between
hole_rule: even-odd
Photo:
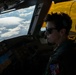
<instances>
[{"instance_id":1,"label":"dark cockpit ceiling above the window showing clouds","mask_svg":"<svg viewBox=\"0 0 76 75\"><path fill-rule=\"evenodd\" d=\"M0 12L7 9L20 9L31 5L35 5L37 2L42 2L46 0L0 0ZM57 2L69 1L69 0L50 0Z\"/></svg>"}]
</instances>

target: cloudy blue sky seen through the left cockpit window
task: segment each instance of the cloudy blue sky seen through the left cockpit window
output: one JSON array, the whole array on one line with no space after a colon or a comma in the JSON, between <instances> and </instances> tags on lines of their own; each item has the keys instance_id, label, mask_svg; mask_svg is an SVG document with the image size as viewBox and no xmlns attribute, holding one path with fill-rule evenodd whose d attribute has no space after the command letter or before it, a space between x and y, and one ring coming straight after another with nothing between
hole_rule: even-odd
<instances>
[{"instance_id":1,"label":"cloudy blue sky seen through the left cockpit window","mask_svg":"<svg viewBox=\"0 0 76 75\"><path fill-rule=\"evenodd\" d=\"M0 14L0 41L27 35L35 6Z\"/></svg>"}]
</instances>

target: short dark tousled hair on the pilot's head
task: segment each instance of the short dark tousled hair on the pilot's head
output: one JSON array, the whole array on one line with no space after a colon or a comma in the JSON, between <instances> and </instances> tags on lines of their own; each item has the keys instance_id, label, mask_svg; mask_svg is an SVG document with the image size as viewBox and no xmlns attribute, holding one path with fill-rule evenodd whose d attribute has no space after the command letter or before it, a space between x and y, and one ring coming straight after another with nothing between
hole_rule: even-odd
<instances>
[{"instance_id":1,"label":"short dark tousled hair on the pilot's head","mask_svg":"<svg viewBox=\"0 0 76 75\"><path fill-rule=\"evenodd\" d=\"M65 28L66 34L69 34L69 31L72 27L71 17L66 13L51 13L45 17L45 22L53 22L58 31Z\"/></svg>"}]
</instances>

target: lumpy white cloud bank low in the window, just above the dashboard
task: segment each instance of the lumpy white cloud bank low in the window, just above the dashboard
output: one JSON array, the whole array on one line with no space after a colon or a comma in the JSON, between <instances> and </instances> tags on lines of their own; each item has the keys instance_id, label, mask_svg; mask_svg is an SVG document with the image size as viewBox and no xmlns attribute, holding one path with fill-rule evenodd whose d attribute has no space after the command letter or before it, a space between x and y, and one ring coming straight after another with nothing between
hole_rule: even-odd
<instances>
[{"instance_id":1,"label":"lumpy white cloud bank low in the window, just above the dashboard","mask_svg":"<svg viewBox=\"0 0 76 75\"><path fill-rule=\"evenodd\" d=\"M11 37L16 37L18 35L25 35L27 34L28 31L28 25L24 26L24 25L18 25L16 28L10 28L8 29L8 32L5 32L3 34L1 34L1 38L11 38Z\"/></svg>"}]
</instances>

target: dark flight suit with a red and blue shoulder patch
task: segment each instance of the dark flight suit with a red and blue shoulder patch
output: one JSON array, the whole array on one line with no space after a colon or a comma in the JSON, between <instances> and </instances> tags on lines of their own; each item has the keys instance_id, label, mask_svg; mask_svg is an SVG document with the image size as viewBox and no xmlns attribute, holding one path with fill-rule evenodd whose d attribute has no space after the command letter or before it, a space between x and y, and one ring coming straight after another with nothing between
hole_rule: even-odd
<instances>
[{"instance_id":1,"label":"dark flight suit with a red and blue shoulder patch","mask_svg":"<svg viewBox=\"0 0 76 75\"><path fill-rule=\"evenodd\" d=\"M64 41L50 56L44 75L76 75L76 43Z\"/></svg>"}]
</instances>

